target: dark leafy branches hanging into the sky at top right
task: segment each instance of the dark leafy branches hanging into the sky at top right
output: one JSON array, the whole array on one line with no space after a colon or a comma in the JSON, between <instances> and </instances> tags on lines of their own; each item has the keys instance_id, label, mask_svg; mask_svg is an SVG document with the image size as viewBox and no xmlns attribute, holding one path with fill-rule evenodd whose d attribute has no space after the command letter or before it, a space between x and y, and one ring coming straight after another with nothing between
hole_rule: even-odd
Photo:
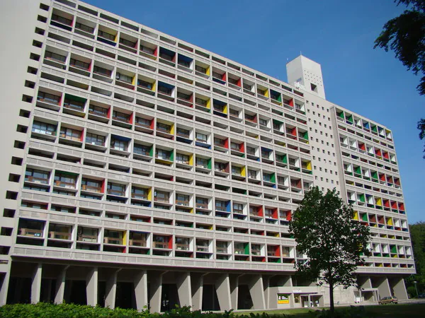
<instances>
[{"instance_id":1,"label":"dark leafy branches hanging into the sky at top right","mask_svg":"<svg viewBox=\"0 0 425 318\"><path fill-rule=\"evenodd\" d=\"M425 95L425 1L394 0L409 8L402 14L385 23L380 35L375 40L375 47L388 52L391 49L408 70L415 75L422 75L416 86L420 95ZM419 138L425 138L425 119L418 122ZM425 152L425 146L424 146ZM424 155L425 159L425 155Z\"/></svg>"}]
</instances>

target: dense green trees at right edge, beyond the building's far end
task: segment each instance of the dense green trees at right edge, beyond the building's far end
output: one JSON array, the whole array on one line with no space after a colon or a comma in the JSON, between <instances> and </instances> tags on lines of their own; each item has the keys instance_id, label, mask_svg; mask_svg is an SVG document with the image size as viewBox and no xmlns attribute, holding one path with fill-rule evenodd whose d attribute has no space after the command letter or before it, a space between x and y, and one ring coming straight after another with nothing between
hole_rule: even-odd
<instances>
[{"instance_id":1,"label":"dense green trees at right edge, beyond the building's far end","mask_svg":"<svg viewBox=\"0 0 425 318\"><path fill-rule=\"evenodd\" d=\"M425 290L425 222L409 225L409 231L412 238L416 274L409 276L406 283L408 286L414 286L414 281L416 281L419 293L423 293ZM416 289L414 293L416 294Z\"/></svg>"}]
</instances>

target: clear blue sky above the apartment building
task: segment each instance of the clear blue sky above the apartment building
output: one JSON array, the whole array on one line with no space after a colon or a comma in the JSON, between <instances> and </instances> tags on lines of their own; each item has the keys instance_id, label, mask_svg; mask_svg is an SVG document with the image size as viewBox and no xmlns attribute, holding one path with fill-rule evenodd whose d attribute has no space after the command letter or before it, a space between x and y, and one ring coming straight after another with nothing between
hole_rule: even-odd
<instances>
[{"instance_id":1,"label":"clear blue sky above the apartment building","mask_svg":"<svg viewBox=\"0 0 425 318\"><path fill-rule=\"evenodd\" d=\"M302 52L322 64L327 100L392 129L409 223L425 221L419 76L373 41L404 6L389 0L86 0L286 81ZM119 5L121 4L121 5Z\"/></svg>"}]
</instances>

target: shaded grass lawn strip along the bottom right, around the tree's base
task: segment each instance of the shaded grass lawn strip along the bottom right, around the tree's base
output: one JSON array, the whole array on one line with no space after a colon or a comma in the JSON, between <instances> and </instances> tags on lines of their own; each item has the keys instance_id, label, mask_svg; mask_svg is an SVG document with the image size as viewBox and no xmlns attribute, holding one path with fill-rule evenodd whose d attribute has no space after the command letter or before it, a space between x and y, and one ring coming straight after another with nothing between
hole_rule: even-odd
<instances>
[{"instance_id":1,"label":"shaded grass lawn strip along the bottom right, around the tree's base","mask_svg":"<svg viewBox=\"0 0 425 318\"><path fill-rule=\"evenodd\" d=\"M337 307L336 312L345 311L347 307ZM322 310L322 308L320 309ZM288 318L307 318L311 317L310 309L300 308L293 310L268 310L266 313L273 317L280 314L285 314ZM256 311L254 314L261 311ZM249 312L236 312L235 314L249 314ZM422 304L397 304L397 305L371 305L365 306L365 318L424 318L425 303Z\"/></svg>"}]
</instances>

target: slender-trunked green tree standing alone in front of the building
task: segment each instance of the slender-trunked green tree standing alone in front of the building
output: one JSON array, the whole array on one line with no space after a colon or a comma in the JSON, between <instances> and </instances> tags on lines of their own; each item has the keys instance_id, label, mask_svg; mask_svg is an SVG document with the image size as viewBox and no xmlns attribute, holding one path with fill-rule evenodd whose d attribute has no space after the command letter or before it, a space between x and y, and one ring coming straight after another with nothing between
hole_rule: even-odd
<instances>
[{"instance_id":1,"label":"slender-trunked green tree standing alone in front of the building","mask_svg":"<svg viewBox=\"0 0 425 318\"><path fill-rule=\"evenodd\" d=\"M297 274L329 285L331 312L334 312L334 287L357 285L353 271L370 255L367 248L369 228L353 220L354 211L336 189L324 194L313 187L294 213L289 228L297 250L307 255L297 264Z\"/></svg>"}]
</instances>

